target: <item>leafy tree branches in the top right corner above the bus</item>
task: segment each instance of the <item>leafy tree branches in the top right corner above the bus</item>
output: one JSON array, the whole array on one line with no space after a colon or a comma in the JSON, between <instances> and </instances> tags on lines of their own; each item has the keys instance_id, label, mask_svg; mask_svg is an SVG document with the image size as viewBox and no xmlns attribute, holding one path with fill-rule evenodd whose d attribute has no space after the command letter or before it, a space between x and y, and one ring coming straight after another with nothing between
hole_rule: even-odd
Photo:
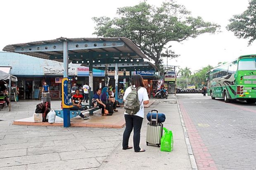
<instances>
[{"instance_id":1,"label":"leafy tree branches in the top right corner above the bus","mask_svg":"<svg viewBox=\"0 0 256 170\"><path fill-rule=\"evenodd\" d=\"M238 38L249 39L250 45L256 39L256 0L250 0L249 7L242 14L234 15L227 29Z\"/></svg>"}]
</instances>

